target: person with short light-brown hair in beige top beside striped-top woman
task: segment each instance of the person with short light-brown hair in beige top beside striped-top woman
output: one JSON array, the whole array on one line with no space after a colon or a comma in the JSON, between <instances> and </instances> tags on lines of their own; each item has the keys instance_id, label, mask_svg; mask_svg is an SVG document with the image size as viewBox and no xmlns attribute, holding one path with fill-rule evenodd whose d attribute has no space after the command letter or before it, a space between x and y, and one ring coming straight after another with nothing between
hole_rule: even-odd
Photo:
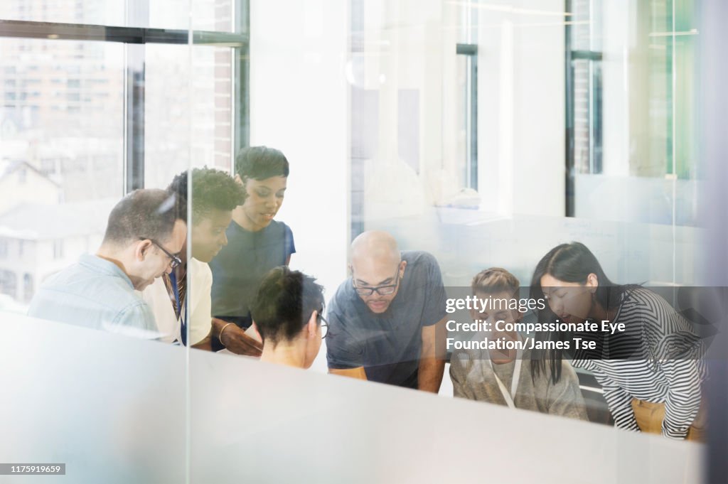
<instances>
[{"instance_id":1,"label":"person with short light-brown hair in beige top beside striped-top woman","mask_svg":"<svg viewBox=\"0 0 728 484\"><path fill-rule=\"evenodd\" d=\"M472 319L490 322L493 328L497 321L512 323L523 319L518 309L508 309L511 300L518 300L520 285L505 269L491 267L480 271L472 279L472 295L482 301L490 299L491 304L484 304L480 312L471 309ZM523 339L514 331L496 329L486 336L488 341ZM483 333L479 333L475 339L482 338ZM530 349L456 349L450 359L450 378L455 397L587 420L574 368L564 360L558 378L552 378L550 369L537 376L531 371Z\"/></svg>"}]
</instances>

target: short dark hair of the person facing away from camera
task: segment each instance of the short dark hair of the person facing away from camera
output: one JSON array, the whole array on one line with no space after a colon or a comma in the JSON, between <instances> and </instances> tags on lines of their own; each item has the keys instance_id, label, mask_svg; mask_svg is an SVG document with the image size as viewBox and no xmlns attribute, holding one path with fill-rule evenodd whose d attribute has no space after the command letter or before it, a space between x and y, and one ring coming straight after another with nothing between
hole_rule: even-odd
<instances>
[{"instance_id":1,"label":"short dark hair of the person facing away from camera","mask_svg":"<svg viewBox=\"0 0 728 484\"><path fill-rule=\"evenodd\" d=\"M264 277L250 314L263 341L275 346L296 338L311 313L321 314L323 308L323 287L314 277L280 266Z\"/></svg>"}]
</instances>

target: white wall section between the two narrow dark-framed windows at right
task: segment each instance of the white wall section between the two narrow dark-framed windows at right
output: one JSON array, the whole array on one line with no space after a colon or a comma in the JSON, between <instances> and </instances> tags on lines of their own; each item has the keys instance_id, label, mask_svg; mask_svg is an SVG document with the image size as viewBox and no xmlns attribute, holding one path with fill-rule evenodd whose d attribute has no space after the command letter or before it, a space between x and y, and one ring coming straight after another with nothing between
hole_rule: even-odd
<instances>
[{"instance_id":1,"label":"white wall section between the two narrow dark-framed windows at right","mask_svg":"<svg viewBox=\"0 0 728 484\"><path fill-rule=\"evenodd\" d=\"M478 11L483 207L505 215L563 215L564 25L563 17L549 15L563 12L563 1L488 5L493 8Z\"/></svg>"}]
</instances>

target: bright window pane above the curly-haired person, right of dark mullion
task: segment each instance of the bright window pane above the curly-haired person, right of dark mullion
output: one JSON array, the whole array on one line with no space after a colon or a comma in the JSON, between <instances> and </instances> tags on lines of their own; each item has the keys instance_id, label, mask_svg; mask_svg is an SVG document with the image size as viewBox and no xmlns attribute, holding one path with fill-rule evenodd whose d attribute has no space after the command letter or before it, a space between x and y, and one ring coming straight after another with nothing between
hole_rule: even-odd
<instances>
[{"instance_id":1,"label":"bright window pane above the curly-haired person, right of dark mullion","mask_svg":"<svg viewBox=\"0 0 728 484\"><path fill-rule=\"evenodd\" d=\"M144 183L165 188L194 167L232 164L232 49L146 46Z\"/></svg>"}]
</instances>

